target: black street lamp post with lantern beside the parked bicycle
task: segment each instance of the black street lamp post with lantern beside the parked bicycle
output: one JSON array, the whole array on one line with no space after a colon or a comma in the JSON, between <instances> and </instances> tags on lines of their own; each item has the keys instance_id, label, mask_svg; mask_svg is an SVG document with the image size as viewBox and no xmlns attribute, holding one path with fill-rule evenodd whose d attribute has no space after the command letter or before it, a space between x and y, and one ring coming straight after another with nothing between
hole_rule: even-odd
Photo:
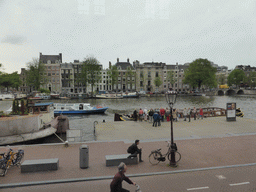
<instances>
[{"instance_id":1,"label":"black street lamp post with lantern beside the parked bicycle","mask_svg":"<svg viewBox=\"0 0 256 192\"><path fill-rule=\"evenodd\" d=\"M174 103L176 102L177 92L173 91L171 88L165 93L166 102L170 107L170 114L171 114L171 160L170 166L176 167L176 160L175 160L175 152L177 151L176 143L173 142L173 117L172 117L172 108Z\"/></svg>"}]
</instances>

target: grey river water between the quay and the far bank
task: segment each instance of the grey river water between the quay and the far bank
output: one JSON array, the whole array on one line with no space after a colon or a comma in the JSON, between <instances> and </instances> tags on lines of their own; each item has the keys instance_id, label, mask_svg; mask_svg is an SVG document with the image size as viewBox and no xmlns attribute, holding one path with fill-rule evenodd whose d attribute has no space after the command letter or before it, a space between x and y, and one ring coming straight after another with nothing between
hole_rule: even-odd
<instances>
[{"instance_id":1,"label":"grey river water between the quay and the far bank","mask_svg":"<svg viewBox=\"0 0 256 192\"><path fill-rule=\"evenodd\" d=\"M139 108L166 108L168 107L165 97L140 97L126 99L83 99L83 100L47 100L46 102L56 103L90 103L92 106L105 105L109 107L105 114L102 115L68 115L70 129L81 129L86 141L94 139L93 130L94 122L112 122L114 114L132 114L134 109ZM174 108L199 108L199 107L221 107L226 108L226 104L235 102L237 108L244 112L244 117L256 120L256 95L239 95L239 96L178 96ZM0 111L7 110L12 101L0 101ZM49 142L47 141L42 142Z\"/></svg>"}]
</instances>

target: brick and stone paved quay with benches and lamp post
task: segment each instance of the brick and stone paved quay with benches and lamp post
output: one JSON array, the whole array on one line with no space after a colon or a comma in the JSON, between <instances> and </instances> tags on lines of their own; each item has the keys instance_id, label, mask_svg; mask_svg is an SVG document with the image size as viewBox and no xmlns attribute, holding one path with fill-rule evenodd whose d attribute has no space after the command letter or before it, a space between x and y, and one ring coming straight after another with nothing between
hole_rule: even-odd
<instances>
[{"instance_id":1,"label":"brick and stone paved quay with benches and lamp post","mask_svg":"<svg viewBox=\"0 0 256 192\"><path fill-rule=\"evenodd\" d=\"M25 150L24 160L59 158L59 170L48 172L21 173L20 168L11 167L1 184L31 181L111 176L116 167L106 167L105 155L126 153L128 146L140 139L143 148L143 163L128 165L127 174L186 170L225 165L255 163L256 159L256 121L238 118L227 122L224 117L174 122L174 139L182 159L177 168L168 167L168 162L151 165L148 155L151 150L167 150L166 140L170 138L170 123L152 127L148 122L106 122L96 127L97 141L70 144L12 146L14 150ZM89 147L89 168L79 166L79 147ZM6 151L0 147L0 152Z\"/></svg>"}]
</instances>

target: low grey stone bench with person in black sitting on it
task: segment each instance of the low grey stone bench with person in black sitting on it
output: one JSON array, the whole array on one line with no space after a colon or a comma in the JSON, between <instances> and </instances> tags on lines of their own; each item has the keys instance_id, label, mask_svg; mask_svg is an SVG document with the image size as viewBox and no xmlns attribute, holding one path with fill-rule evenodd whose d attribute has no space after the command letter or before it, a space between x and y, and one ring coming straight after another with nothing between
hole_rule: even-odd
<instances>
[{"instance_id":1,"label":"low grey stone bench with person in black sitting on it","mask_svg":"<svg viewBox=\"0 0 256 192\"><path fill-rule=\"evenodd\" d=\"M106 155L106 166L118 166L121 162L126 165L137 164L138 157L128 158L131 154L121 154L121 155Z\"/></svg>"}]
</instances>

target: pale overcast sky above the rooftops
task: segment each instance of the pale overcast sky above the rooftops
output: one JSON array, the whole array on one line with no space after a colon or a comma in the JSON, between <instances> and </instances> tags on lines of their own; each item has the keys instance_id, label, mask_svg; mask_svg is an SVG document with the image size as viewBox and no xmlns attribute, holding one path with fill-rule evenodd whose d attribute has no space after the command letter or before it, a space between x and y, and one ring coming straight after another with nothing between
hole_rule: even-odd
<instances>
[{"instance_id":1,"label":"pale overcast sky above the rooftops","mask_svg":"<svg viewBox=\"0 0 256 192\"><path fill-rule=\"evenodd\" d=\"M1 71L62 53L62 62L96 57L219 66L256 66L255 0L0 0Z\"/></svg>"}]
</instances>

